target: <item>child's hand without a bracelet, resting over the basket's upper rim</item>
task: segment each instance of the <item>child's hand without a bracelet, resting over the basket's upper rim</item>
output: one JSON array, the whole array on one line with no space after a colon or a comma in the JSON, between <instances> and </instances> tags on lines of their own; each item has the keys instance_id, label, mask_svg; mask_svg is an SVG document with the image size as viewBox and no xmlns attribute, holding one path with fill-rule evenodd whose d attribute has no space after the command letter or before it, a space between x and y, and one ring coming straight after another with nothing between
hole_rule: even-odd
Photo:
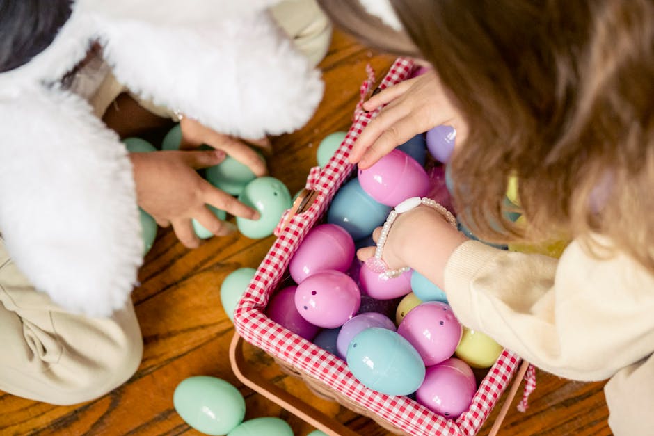
<instances>
[{"instance_id":1,"label":"child's hand without a bracelet, resting over the basket's upper rim","mask_svg":"<svg viewBox=\"0 0 654 436\"><path fill-rule=\"evenodd\" d=\"M387 105L367 125L350 153L349 161L362 170L413 136L441 124L456 129L457 144L465 141L467 127L433 71L386 88L363 108L373 111L383 104Z\"/></svg>"}]
</instances>

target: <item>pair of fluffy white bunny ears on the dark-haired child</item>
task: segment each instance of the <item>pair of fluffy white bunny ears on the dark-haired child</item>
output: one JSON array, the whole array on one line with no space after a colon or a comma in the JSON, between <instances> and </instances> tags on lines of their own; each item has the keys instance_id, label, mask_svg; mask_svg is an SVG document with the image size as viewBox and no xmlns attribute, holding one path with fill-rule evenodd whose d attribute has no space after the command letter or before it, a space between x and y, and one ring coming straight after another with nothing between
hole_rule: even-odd
<instances>
[{"instance_id":1,"label":"pair of fluffy white bunny ears on the dark-haired child","mask_svg":"<svg viewBox=\"0 0 654 436\"><path fill-rule=\"evenodd\" d=\"M106 316L136 282L143 241L125 147L56 83L99 40L115 76L230 134L301 127L319 73L263 11L273 0L78 0L54 42L0 74L0 232L37 289Z\"/></svg>"}]
</instances>

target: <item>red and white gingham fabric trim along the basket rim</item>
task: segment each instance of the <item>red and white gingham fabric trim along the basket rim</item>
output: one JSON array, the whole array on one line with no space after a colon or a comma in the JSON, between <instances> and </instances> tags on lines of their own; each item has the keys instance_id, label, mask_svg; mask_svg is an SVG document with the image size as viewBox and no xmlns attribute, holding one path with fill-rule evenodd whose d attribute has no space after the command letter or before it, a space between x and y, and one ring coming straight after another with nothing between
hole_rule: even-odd
<instances>
[{"instance_id":1,"label":"red and white gingham fabric trim along the basket rim","mask_svg":"<svg viewBox=\"0 0 654 436\"><path fill-rule=\"evenodd\" d=\"M406 79L413 68L410 60L399 58L381 81L387 88ZM374 86L374 72L361 86L362 101ZM294 369L321 380L330 389L350 398L392 426L412 435L475 435L490 414L502 391L516 372L519 357L504 350L479 385L472 405L456 421L445 419L405 396L381 394L362 385L346 362L271 321L264 310L278 284L288 277L287 266L298 245L318 222L336 191L349 177L353 165L347 156L356 138L377 112L367 113L358 104L353 124L335 155L324 168L313 168L307 188L318 191L317 199L305 212L294 216L285 229L278 228L278 239L257 268L255 276L234 311L234 325L246 341ZM282 222L284 219L282 218Z\"/></svg>"}]
</instances>

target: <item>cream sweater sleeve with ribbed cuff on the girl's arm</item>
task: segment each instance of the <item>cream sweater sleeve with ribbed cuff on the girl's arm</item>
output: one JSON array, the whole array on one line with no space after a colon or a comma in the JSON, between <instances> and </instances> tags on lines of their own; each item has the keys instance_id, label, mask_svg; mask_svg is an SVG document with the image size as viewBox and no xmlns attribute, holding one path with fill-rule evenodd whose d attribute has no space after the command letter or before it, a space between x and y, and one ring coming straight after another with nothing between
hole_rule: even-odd
<instances>
[{"instance_id":1,"label":"cream sweater sleeve with ribbed cuff on the girl's arm","mask_svg":"<svg viewBox=\"0 0 654 436\"><path fill-rule=\"evenodd\" d=\"M654 350L654 278L573 241L553 259L478 241L457 248L445 292L458 319L545 371L603 380Z\"/></svg>"}]
</instances>

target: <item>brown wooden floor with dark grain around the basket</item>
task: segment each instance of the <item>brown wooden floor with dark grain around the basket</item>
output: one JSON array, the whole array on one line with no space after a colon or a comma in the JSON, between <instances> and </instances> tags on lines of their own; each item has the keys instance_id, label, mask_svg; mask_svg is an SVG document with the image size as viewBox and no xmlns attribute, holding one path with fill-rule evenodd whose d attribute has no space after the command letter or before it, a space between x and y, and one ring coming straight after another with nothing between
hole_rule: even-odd
<instances>
[{"instance_id":1,"label":"brown wooden floor with dark grain around the basket","mask_svg":"<svg viewBox=\"0 0 654 436\"><path fill-rule=\"evenodd\" d=\"M291 193L303 188L309 169L317 165L320 140L349 127L358 100L365 65L384 72L393 58L377 56L350 38L335 33L321 63L326 94L311 122L294 134L274 138L269 159L273 177ZM170 230L160 229L139 273L141 286L134 305L141 323L145 350L134 377L122 387L77 407L35 403L0 392L0 435L197 435L173 408L173 391L190 376L223 378L246 398L246 419L281 417L296 436L314 428L245 387L230 369L228 348L234 333L221 307L223 278L241 267L257 267L273 237L253 241L234 235L213 239L196 250L184 248ZM388 435L369 419L337 403L311 396L303 382L285 376L260 350L248 348L248 360L267 380L311 403L362 435ZM603 383L561 380L539 371L538 386L525 413L509 409L500 435L610 435ZM517 403L517 399L514 400ZM488 434L499 406L481 430Z\"/></svg>"}]
</instances>

